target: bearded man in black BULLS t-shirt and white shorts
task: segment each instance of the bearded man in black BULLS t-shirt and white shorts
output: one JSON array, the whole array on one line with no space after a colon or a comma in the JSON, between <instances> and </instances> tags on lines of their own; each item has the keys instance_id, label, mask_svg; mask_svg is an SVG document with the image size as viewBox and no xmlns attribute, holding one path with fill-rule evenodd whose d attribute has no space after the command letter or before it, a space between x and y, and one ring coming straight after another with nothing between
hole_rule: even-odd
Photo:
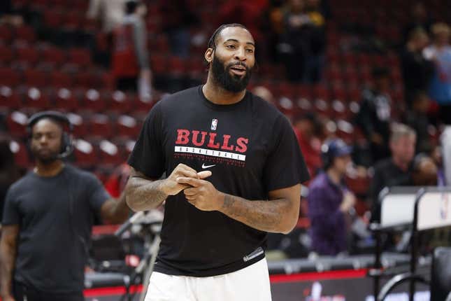
<instances>
[{"instance_id":1,"label":"bearded man in black BULLS t-shirt and white shorts","mask_svg":"<svg viewBox=\"0 0 451 301\"><path fill-rule=\"evenodd\" d=\"M206 84L158 102L129 158L129 207L166 201L145 300L271 300L266 232L294 228L308 172L287 118L245 90L248 29L219 27L205 59Z\"/></svg>"}]
</instances>

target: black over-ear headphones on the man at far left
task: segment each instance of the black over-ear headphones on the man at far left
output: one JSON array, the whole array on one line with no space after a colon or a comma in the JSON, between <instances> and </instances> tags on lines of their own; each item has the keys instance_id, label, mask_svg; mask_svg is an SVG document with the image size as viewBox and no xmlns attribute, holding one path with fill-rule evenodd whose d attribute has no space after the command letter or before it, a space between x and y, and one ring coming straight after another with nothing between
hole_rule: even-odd
<instances>
[{"instance_id":1,"label":"black over-ear headphones on the man at far left","mask_svg":"<svg viewBox=\"0 0 451 301\"><path fill-rule=\"evenodd\" d=\"M73 125L69 118L64 116L63 113L57 111L42 111L31 116L27 123L27 134L29 139L31 139L31 134L33 134L33 127L38 123L39 120L43 118L50 118L59 123L64 123L68 126L69 132L63 130L62 139L61 139L61 151L59 151L58 159L64 159L69 157L73 152L73 138L72 131Z\"/></svg>"}]
</instances>

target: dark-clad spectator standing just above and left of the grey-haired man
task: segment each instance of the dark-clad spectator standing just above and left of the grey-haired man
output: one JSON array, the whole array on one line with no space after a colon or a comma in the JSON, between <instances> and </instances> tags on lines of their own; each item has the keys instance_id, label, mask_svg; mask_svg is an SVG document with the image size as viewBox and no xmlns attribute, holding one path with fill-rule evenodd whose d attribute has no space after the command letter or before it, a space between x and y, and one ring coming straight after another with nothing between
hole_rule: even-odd
<instances>
[{"instance_id":1,"label":"dark-clad spectator standing just above and left of the grey-haired man","mask_svg":"<svg viewBox=\"0 0 451 301\"><path fill-rule=\"evenodd\" d=\"M370 143L373 162L389 156L391 99L387 91L390 80L386 68L376 67L372 71L374 86L362 92L356 123Z\"/></svg>"}]
</instances>

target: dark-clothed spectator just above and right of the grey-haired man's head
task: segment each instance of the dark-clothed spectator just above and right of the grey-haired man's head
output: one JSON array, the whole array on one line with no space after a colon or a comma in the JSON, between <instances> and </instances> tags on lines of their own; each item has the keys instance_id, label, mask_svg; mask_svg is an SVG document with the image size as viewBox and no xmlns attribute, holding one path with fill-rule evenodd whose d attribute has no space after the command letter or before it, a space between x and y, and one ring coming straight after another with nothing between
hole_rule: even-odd
<instances>
[{"instance_id":1,"label":"dark-clothed spectator just above and right of the grey-haired man's head","mask_svg":"<svg viewBox=\"0 0 451 301\"><path fill-rule=\"evenodd\" d=\"M417 133L415 153L430 153L432 145L429 137L429 118L427 116L430 99L424 91L417 91L412 95L412 104L403 116L403 123L412 127Z\"/></svg>"}]
</instances>

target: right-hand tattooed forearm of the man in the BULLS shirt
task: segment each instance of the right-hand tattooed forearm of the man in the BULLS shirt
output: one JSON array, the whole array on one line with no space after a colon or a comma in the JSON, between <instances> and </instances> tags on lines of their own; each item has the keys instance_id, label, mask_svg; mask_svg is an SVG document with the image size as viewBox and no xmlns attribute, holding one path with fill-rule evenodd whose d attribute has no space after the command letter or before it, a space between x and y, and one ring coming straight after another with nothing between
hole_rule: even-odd
<instances>
[{"instance_id":1,"label":"right-hand tattooed forearm of the man in the BULLS shirt","mask_svg":"<svg viewBox=\"0 0 451 301\"><path fill-rule=\"evenodd\" d=\"M224 193L222 213L236 221L266 232L279 232L292 205L289 200L250 201Z\"/></svg>"}]
</instances>

